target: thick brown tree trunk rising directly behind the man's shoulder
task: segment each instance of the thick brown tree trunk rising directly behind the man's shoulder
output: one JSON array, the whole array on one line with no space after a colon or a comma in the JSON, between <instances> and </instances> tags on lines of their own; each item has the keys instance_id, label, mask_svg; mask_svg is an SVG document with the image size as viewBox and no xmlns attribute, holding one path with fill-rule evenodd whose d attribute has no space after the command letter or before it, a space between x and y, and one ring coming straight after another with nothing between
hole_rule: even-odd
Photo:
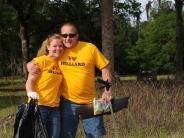
<instances>
[{"instance_id":1,"label":"thick brown tree trunk rising directly behind the man's shoulder","mask_svg":"<svg viewBox=\"0 0 184 138\"><path fill-rule=\"evenodd\" d=\"M114 72L113 0L102 0L101 6L102 51L110 60L109 69Z\"/></svg>"}]
</instances>

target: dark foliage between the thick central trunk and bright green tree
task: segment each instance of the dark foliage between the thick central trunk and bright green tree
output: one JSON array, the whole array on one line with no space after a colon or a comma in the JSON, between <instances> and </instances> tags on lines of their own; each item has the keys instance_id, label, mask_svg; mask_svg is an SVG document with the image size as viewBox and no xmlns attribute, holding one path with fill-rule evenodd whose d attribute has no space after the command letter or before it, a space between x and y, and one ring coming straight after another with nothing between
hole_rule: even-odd
<instances>
[{"instance_id":1,"label":"dark foliage between the thick central trunk and bright green tree","mask_svg":"<svg viewBox=\"0 0 184 138\"><path fill-rule=\"evenodd\" d=\"M114 3L114 59L115 70L120 74L136 72L128 64L126 50L137 41L137 28L131 22L139 18L140 12L140 3L135 0Z\"/></svg>"}]
</instances>

